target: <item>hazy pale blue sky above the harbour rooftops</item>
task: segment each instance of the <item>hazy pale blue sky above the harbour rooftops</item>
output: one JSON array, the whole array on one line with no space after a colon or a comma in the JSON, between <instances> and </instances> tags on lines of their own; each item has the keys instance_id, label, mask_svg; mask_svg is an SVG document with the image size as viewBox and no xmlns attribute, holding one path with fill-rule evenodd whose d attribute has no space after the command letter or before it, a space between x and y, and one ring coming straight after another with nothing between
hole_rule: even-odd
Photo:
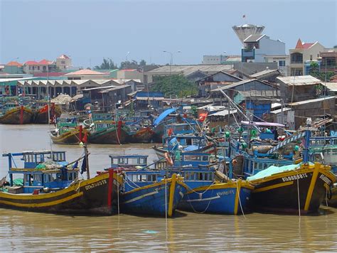
<instances>
[{"instance_id":1,"label":"hazy pale blue sky above the harbour rooftops","mask_svg":"<svg viewBox=\"0 0 337 253\"><path fill-rule=\"evenodd\" d=\"M73 65L93 67L103 57L120 63L129 51L129 60L164 64L169 55L162 50L181 50L174 63L197 64L203 55L240 54L232 26L243 23L266 26L264 33L284 41L286 50L298 38L333 47L336 13L336 0L0 0L0 63L65 53Z\"/></svg>"}]
</instances>

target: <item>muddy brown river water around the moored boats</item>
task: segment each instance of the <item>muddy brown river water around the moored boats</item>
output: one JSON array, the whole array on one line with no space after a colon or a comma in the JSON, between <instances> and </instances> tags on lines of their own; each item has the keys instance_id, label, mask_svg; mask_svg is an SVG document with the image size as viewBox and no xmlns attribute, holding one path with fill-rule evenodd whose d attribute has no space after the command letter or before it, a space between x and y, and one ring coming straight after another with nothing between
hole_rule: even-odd
<instances>
[{"instance_id":1,"label":"muddy brown river water around the moored boats","mask_svg":"<svg viewBox=\"0 0 337 253\"><path fill-rule=\"evenodd\" d=\"M67 151L72 161L80 146L50 144L48 126L0 125L0 152L50 149ZM109 154L147 154L151 144L90 145L90 171L109 166ZM7 161L0 158L0 178ZM206 215L178 212L161 217L51 215L0 208L0 252L22 251L337 251L337 209L310 216L250 213Z\"/></svg>"}]
</instances>

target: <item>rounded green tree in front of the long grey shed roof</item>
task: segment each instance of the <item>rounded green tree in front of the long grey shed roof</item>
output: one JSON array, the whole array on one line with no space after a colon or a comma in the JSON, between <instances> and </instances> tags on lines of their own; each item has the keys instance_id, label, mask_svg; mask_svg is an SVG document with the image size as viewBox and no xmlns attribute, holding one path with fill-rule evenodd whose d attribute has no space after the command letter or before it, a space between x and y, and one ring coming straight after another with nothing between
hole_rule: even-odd
<instances>
[{"instance_id":1,"label":"rounded green tree in front of the long grey shed roof","mask_svg":"<svg viewBox=\"0 0 337 253\"><path fill-rule=\"evenodd\" d=\"M151 91L163 92L165 97L188 97L198 94L198 87L183 75L156 77Z\"/></svg>"}]
</instances>

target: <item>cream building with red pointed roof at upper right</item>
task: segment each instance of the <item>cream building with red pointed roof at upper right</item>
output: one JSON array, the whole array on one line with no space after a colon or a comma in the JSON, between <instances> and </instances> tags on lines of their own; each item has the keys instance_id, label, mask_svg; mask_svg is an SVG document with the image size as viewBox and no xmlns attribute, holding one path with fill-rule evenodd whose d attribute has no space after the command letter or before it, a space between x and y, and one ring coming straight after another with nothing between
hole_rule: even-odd
<instances>
[{"instance_id":1,"label":"cream building with red pointed roof at upper right","mask_svg":"<svg viewBox=\"0 0 337 253\"><path fill-rule=\"evenodd\" d=\"M304 43L299 40L295 48L289 49L290 55L290 75L308 75L305 64L311 61L317 61L320 53L324 51L323 45L318 41L314 43Z\"/></svg>"}]
</instances>

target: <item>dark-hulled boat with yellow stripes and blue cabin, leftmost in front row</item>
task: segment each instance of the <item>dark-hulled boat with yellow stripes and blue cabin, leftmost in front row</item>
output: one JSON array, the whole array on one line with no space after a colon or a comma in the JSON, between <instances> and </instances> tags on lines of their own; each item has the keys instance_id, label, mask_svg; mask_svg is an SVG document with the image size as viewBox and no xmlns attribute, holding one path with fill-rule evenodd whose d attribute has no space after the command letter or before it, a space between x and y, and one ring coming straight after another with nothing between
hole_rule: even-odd
<instances>
[{"instance_id":1,"label":"dark-hulled boat with yellow stripes and blue cabin, leftmost in front row","mask_svg":"<svg viewBox=\"0 0 337 253\"><path fill-rule=\"evenodd\" d=\"M112 169L81 180L77 162L67 163L64 151L26 151L3 156L8 157L10 179L7 186L0 185L0 208L94 215L112 215L116 210L118 177ZM21 156L23 167L13 166L16 156ZM20 185L15 185L14 176L23 176Z\"/></svg>"}]
</instances>

